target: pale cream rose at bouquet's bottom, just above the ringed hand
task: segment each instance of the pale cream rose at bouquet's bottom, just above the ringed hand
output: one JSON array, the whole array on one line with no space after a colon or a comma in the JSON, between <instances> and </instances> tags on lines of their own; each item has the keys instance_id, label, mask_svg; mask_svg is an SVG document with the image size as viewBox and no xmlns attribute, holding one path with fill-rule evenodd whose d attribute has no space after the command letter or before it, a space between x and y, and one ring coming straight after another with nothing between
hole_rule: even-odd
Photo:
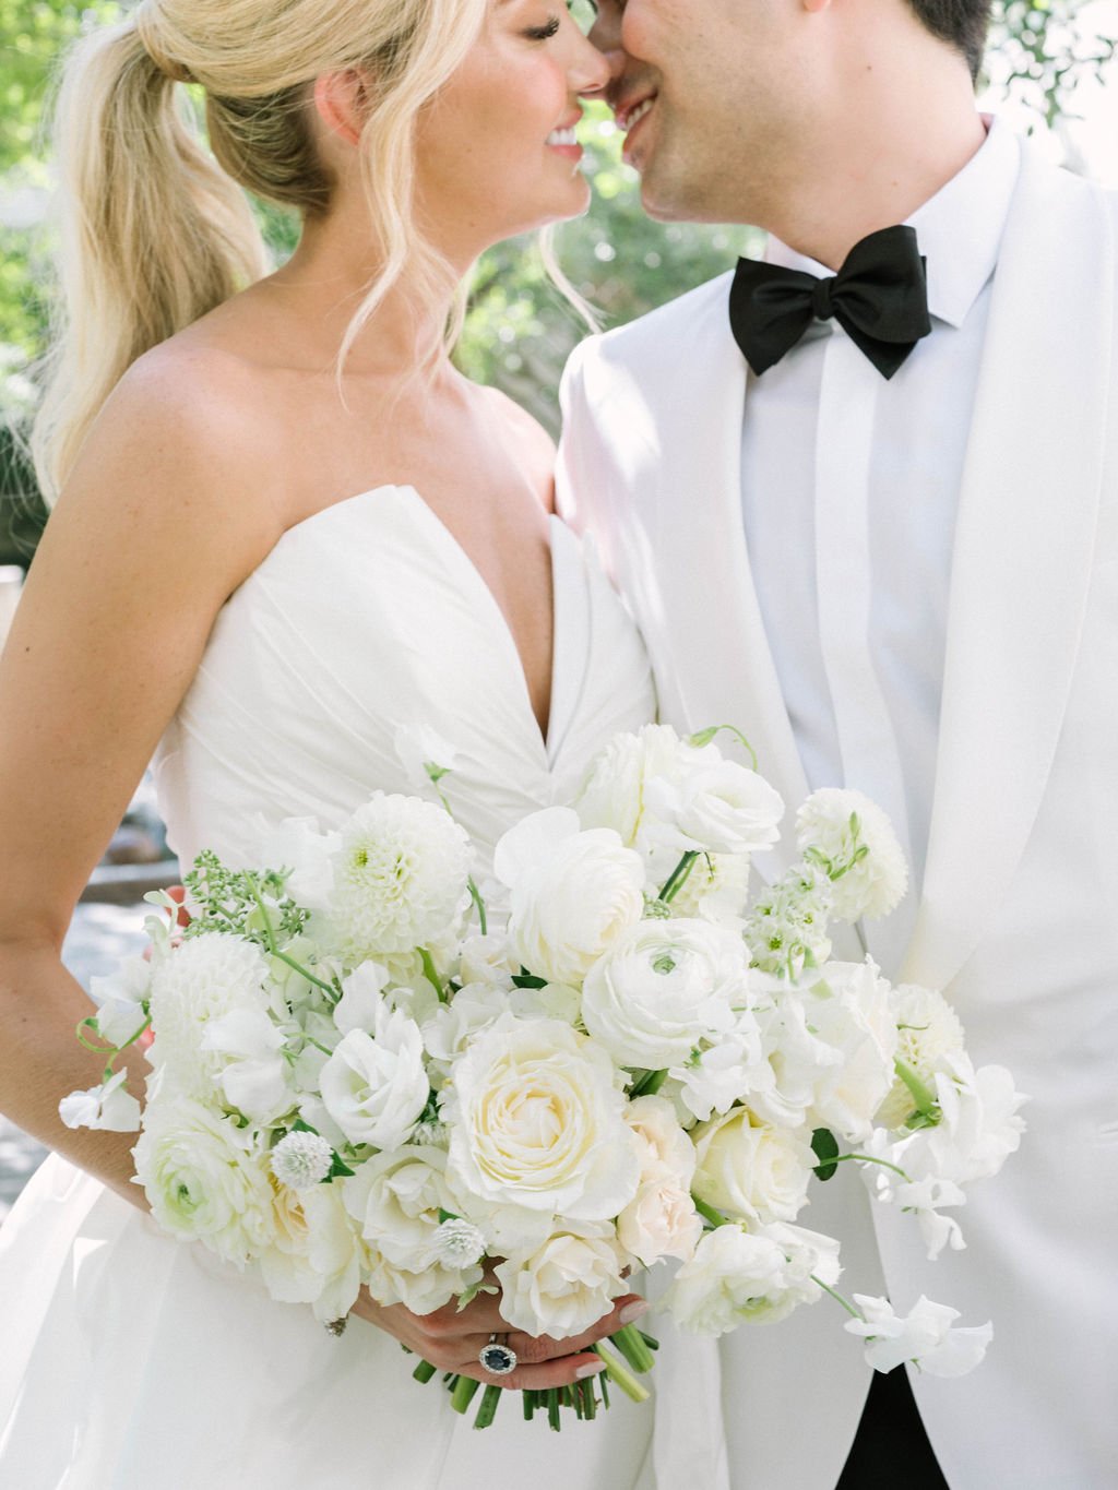
<instances>
[{"instance_id":1,"label":"pale cream rose at bouquet's bottom, just above the ringed hand","mask_svg":"<svg viewBox=\"0 0 1118 1490\"><path fill-rule=\"evenodd\" d=\"M501 1314L513 1329L528 1335L553 1340L581 1335L625 1293L623 1268L608 1223L562 1231L538 1252L496 1265Z\"/></svg>"}]
</instances>

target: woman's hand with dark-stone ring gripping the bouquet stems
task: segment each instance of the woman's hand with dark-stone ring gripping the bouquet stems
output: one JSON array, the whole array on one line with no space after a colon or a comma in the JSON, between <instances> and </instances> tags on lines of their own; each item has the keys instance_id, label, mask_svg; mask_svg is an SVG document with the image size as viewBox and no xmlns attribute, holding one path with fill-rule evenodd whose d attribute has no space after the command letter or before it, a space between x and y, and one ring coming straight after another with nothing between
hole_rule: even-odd
<instances>
[{"instance_id":1,"label":"woman's hand with dark-stone ring gripping the bouquet stems","mask_svg":"<svg viewBox=\"0 0 1118 1490\"><path fill-rule=\"evenodd\" d=\"M452 1302L434 1314L413 1314L402 1304L374 1304L368 1290L362 1289L353 1305L353 1314L388 1331L440 1371L456 1371L486 1386L543 1392L549 1387L571 1386L604 1371L605 1363L589 1347L613 1335L623 1325L631 1325L647 1307L639 1295L625 1293L614 1301L608 1314L569 1340L552 1340L550 1335L537 1338L508 1329L501 1319L499 1295L492 1293L479 1293L461 1311ZM492 1375L477 1359L481 1348L489 1344L489 1337L495 1334L501 1337L502 1344L516 1351L516 1371L507 1377Z\"/></svg>"}]
</instances>

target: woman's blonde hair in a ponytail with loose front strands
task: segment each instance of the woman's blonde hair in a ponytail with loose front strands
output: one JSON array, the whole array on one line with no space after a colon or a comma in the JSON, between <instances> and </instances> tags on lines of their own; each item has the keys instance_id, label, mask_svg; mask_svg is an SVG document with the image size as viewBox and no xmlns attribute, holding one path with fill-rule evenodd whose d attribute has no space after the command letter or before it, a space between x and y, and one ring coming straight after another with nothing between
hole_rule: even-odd
<instances>
[{"instance_id":1,"label":"woman's blonde hair in a ponytail with loose front strands","mask_svg":"<svg viewBox=\"0 0 1118 1490\"><path fill-rule=\"evenodd\" d=\"M31 448L54 501L89 425L151 347L270 268L244 189L326 210L310 109L322 73L367 67L359 155L383 265L341 346L407 267L455 280L416 228L414 121L477 37L486 0L142 0L86 34L55 104L61 305ZM206 97L200 136L192 100Z\"/></svg>"}]
</instances>

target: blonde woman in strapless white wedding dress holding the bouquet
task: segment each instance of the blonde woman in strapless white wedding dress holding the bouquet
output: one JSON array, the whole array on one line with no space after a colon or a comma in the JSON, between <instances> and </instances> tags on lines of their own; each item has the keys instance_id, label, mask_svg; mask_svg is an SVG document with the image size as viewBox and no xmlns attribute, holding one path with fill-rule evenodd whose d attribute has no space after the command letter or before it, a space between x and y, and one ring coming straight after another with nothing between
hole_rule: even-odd
<instances>
[{"instance_id":1,"label":"blonde woman in strapless white wedding dress holding the bouquet","mask_svg":"<svg viewBox=\"0 0 1118 1490\"><path fill-rule=\"evenodd\" d=\"M97 1079L60 945L157 746L183 863L252 863L283 817L411 790L401 729L453 745L492 846L651 715L639 641L552 516L549 440L446 337L479 253L584 210L571 128L604 82L556 0L143 0L67 67L69 325L36 435L58 502L0 672L0 1091L58 1150L0 1235L4 1486L653 1483L647 1408L544 1444L513 1402L477 1435L411 1380L401 1344L484 1380L492 1299L422 1319L362 1293L329 1338L157 1231L131 1137L57 1116ZM279 273L241 188L303 216ZM598 1369L639 1308L513 1334L507 1383Z\"/></svg>"}]
</instances>

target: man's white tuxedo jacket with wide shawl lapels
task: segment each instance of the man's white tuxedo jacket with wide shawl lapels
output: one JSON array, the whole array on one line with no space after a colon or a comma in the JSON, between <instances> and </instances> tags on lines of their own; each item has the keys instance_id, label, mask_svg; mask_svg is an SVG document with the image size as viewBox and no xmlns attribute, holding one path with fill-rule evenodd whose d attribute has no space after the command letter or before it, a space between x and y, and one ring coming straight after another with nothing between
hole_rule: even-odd
<instances>
[{"instance_id":1,"label":"man's white tuxedo jacket with wide shawl lapels","mask_svg":"<svg viewBox=\"0 0 1118 1490\"><path fill-rule=\"evenodd\" d=\"M932 833L903 968L947 992L976 1062L1012 1070L1029 1132L970 1189L967 1250L935 1264L911 1217L871 1208L853 1173L815 1186L803 1217L844 1238L848 1290L885 1289L899 1308L927 1293L961 1323L993 1319L973 1375L914 1378L953 1490L1118 1487L1117 240L1118 198L1023 146L960 493ZM738 724L795 808L806 787L742 532L745 367L727 291L729 276L575 352L560 504L644 630L662 717ZM678 1381L659 1392L663 1490L704 1475L833 1490L868 1389L836 1305L666 1354Z\"/></svg>"}]
</instances>

